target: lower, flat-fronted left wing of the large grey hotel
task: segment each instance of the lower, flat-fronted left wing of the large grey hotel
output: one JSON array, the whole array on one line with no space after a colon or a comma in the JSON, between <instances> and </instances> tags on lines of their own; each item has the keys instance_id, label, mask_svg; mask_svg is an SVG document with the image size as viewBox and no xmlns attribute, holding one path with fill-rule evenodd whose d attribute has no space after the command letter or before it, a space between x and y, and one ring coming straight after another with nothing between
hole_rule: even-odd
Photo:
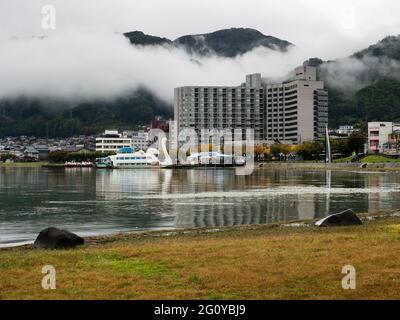
<instances>
[{"instance_id":1,"label":"lower, flat-fronted left wing of the large grey hotel","mask_svg":"<svg viewBox=\"0 0 400 320\"><path fill-rule=\"evenodd\" d=\"M192 128L254 129L255 140L264 139L264 87L261 74L248 75L237 87L181 87L175 89L174 119L177 131Z\"/></svg>"}]
</instances>

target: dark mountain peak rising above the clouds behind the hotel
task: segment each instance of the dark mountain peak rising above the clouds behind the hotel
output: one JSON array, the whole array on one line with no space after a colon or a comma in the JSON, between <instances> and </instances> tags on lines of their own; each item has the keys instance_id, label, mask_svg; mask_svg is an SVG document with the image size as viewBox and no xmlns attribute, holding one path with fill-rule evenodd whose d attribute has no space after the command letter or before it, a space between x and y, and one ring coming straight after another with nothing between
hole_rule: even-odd
<instances>
[{"instance_id":1,"label":"dark mountain peak rising above the clouds behind the hotel","mask_svg":"<svg viewBox=\"0 0 400 320\"><path fill-rule=\"evenodd\" d=\"M216 54L221 57L235 57L257 47L286 52L293 46L288 41L249 28L231 28L207 34L186 35L174 41L146 35L141 31L124 34L133 45L171 45L182 47L190 54Z\"/></svg>"}]
</instances>

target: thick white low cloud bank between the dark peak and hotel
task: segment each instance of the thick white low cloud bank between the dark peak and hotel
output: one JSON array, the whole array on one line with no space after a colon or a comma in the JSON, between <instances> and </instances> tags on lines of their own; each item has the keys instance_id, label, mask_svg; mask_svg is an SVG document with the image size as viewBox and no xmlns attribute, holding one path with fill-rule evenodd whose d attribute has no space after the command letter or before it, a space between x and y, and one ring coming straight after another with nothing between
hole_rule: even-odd
<instances>
[{"instance_id":1,"label":"thick white low cloud bank between the dark peak and hotel","mask_svg":"<svg viewBox=\"0 0 400 320\"><path fill-rule=\"evenodd\" d=\"M183 85L239 85L248 73L279 77L306 54L256 48L236 58L198 57L171 47L132 46L120 34L61 34L0 42L0 98L107 99L145 86L172 102Z\"/></svg>"}]
</instances>

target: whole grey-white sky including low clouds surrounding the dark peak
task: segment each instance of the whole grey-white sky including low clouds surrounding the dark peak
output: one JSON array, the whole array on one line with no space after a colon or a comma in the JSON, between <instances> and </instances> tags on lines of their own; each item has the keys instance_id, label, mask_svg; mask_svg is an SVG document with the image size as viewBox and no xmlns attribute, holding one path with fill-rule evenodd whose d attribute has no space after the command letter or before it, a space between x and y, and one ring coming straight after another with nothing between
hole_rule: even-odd
<instances>
[{"instance_id":1,"label":"whole grey-white sky including low clouds surrounding the dark peak","mask_svg":"<svg viewBox=\"0 0 400 320\"><path fill-rule=\"evenodd\" d=\"M47 4L56 9L56 30L41 26ZM144 85L172 101L177 86L239 85L248 73L279 77L310 57L349 56L399 34L399 13L398 0L0 0L0 98L108 98ZM197 57L198 65L181 49L138 48L120 35L142 30L175 39L229 27L297 47ZM346 71L356 67L345 64Z\"/></svg>"}]
</instances>

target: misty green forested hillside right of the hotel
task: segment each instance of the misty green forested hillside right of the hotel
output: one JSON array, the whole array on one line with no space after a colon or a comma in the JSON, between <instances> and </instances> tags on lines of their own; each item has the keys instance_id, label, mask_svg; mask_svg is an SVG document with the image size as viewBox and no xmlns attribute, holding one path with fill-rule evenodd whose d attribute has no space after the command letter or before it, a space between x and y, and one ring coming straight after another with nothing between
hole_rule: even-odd
<instances>
[{"instance_id":1,"label":"misty green forested hillside right of the hotel","mask_svg":"<svg viewBox=\"0 0 400 320\"><path fill-rule=\"evenodd\" d=\"M345 59L312 58L329 90L329 125L400 120L400 36L386 37Z\"/></svg>"}]
</instances>

